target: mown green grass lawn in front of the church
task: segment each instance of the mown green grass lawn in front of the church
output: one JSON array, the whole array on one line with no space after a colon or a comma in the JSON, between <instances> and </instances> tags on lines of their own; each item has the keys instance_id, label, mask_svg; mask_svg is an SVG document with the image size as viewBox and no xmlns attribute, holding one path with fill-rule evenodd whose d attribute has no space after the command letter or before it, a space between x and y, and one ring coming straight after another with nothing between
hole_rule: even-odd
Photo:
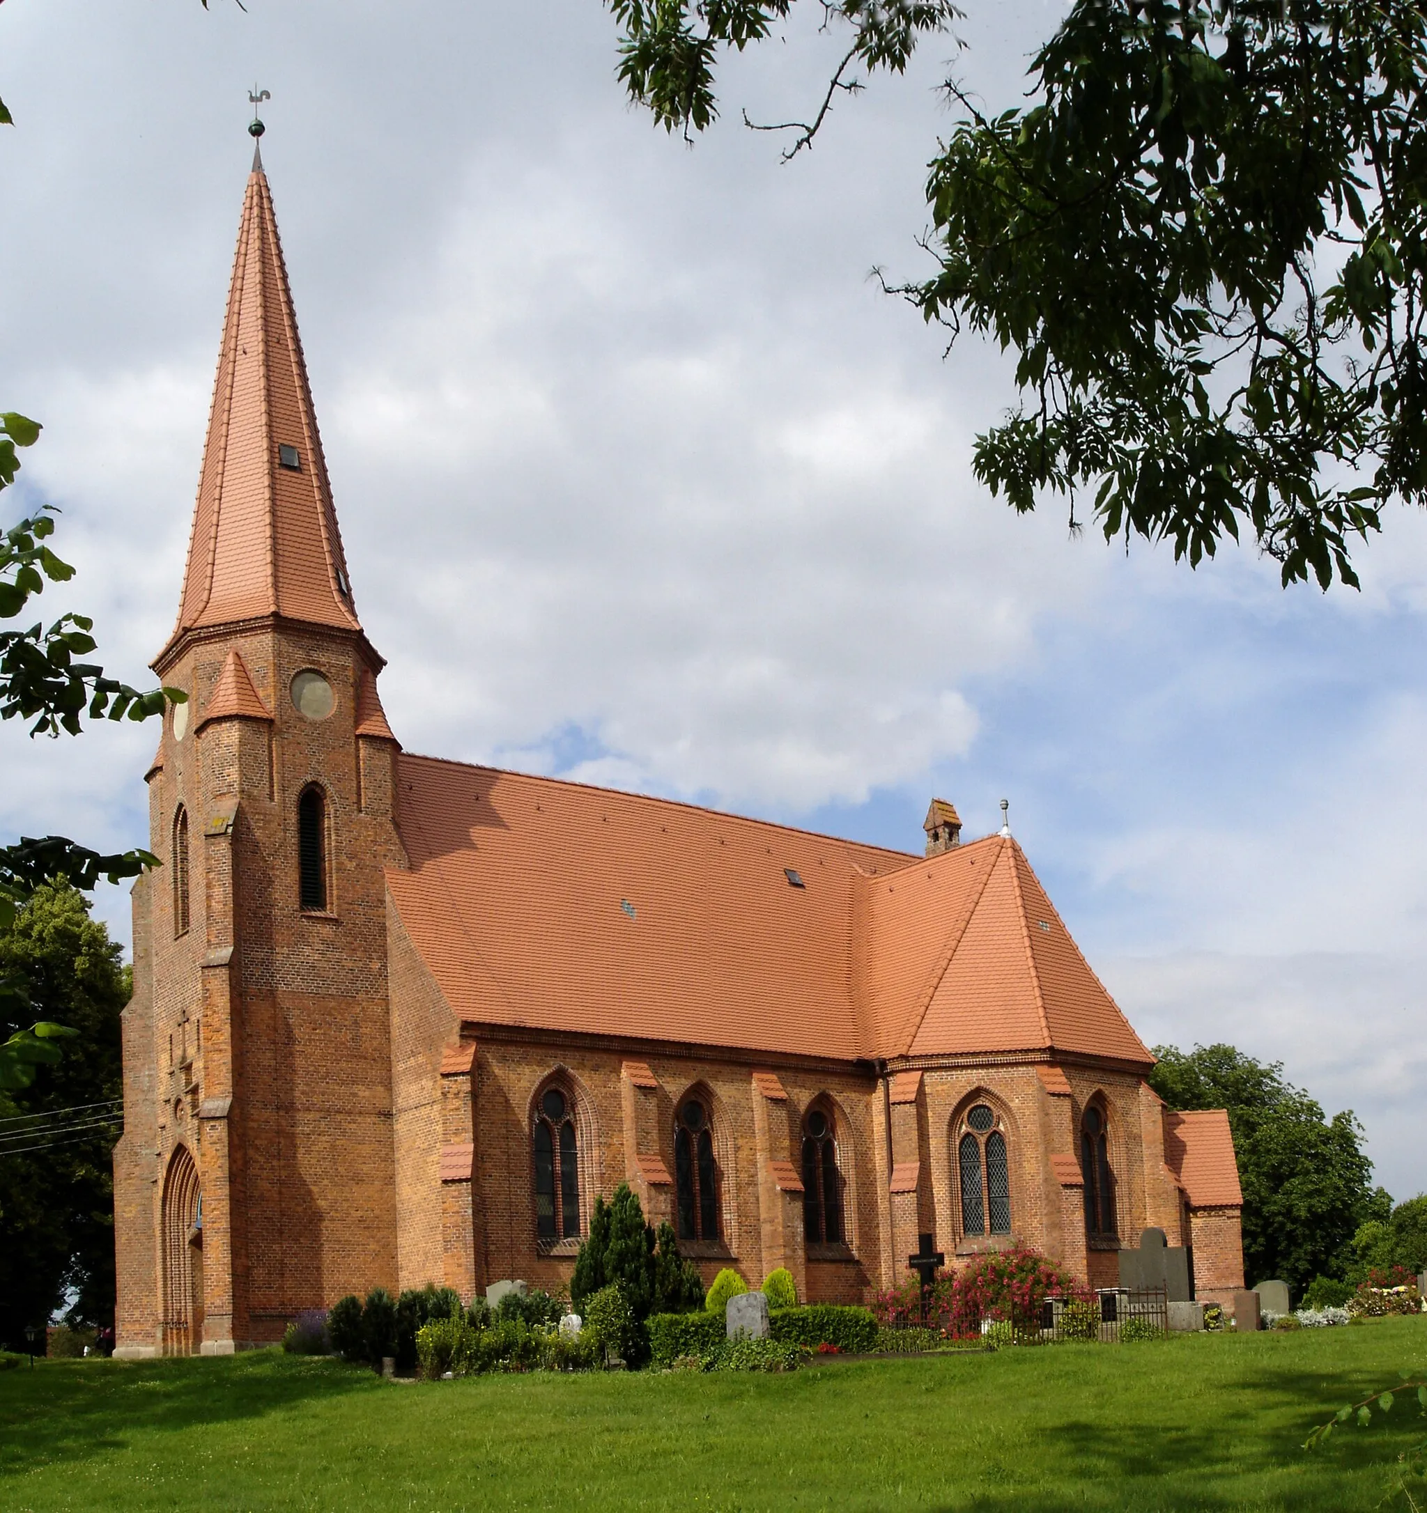
<instances>
[{"instance_id":1,"label":"mown green grass lawn in front of the church","mask_svg":"<svg viewBox=\"0 0 1427 1513\"><path fill-rule=\"evenodd\" d=\"M1427 1428L1415 1403L1298 1446L1424 1368L1427 1319L785 1377L412 1386L275 1351L45 1362L0 1372L0 1508L1368 1510Z\"/></svg>"}]
</instances>

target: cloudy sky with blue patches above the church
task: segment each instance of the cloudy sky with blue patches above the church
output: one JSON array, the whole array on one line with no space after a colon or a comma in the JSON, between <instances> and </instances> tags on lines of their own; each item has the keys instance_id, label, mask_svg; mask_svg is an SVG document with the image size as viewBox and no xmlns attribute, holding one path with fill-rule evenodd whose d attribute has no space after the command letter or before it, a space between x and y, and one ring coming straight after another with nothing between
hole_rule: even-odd
<instances>
[{"instance_id":1,"label":"cloudy sky with blue patches above the church","mask_svg":"<svg viewBox=\"0 0 1427 1513\"><path fill-rule=\"evenodd\" d=\"M807 9L805 0L799 11ZM254 83L356 601L409 750L920 849L999 800L1150 1044L1227 1039L1427 1188L1427 522L1362 592L1226 549L1071 539L973 478L1008 360L925 275L956 77L1020 100L1049 0L967 0L784 163L814 15L726 64L689 147L630 107L598 0L9 0L3 409L148 685L198 478ZM150 726L0 728L0 834L144 844ZM127 897L97 909L129 940Z\"/></svg>"}]
</instances>

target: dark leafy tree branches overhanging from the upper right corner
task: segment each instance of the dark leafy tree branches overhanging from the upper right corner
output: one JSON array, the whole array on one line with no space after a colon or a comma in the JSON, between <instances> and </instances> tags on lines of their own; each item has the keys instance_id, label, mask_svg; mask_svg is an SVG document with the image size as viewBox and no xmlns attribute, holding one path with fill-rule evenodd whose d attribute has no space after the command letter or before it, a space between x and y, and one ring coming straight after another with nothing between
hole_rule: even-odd
<instances>
[{"instance_id":1,"label":"dark leafy tree branches overhanging from the upper right corner","mask_svg":"<svg viewBox=\"0 0 1427 1513\"><path fill-rule=\"evenodd\" d=\"M667 130L717 118L728 48L791 0L608 0L619 77ZM853 71L900 73L950 3L823 0ZM1412 0L1076 0L1031 101L962 110L932 157L937 272L896 286L952 342L1017 354L1021 407L975 471L1020 511L1093 492L1106 539L1191 566L1241 531L1357 583L1392 501L1427 504L1427 12ZM746 117L745 117L746 120ZM755 123L748 123L755 124Z\"/></svg>"}]
</instances>

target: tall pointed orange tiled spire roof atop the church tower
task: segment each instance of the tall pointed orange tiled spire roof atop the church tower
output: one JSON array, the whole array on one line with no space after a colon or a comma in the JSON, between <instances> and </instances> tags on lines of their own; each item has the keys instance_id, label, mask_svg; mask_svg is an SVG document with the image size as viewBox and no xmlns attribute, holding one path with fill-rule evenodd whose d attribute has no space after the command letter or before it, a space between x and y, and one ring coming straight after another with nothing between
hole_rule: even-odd
<instances>
[{"instance_id":1,"label":"tall pointed orange tiled spire roof atop the church tower","mask_svg":"<svg viewBox=\"0 0 1427 1513\"><path fill-rule=\"evenodd\" d=\"M362 629L272 195L254 154L169 648L185 631L266 616Z\"/></svg>"}]
</instances>

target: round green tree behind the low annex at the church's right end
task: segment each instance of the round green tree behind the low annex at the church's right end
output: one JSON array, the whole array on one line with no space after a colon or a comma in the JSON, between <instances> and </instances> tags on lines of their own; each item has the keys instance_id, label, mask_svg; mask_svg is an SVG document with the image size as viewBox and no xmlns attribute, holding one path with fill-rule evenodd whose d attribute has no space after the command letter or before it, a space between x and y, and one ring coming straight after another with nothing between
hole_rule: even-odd
<instances>
[{"instance_id":1,"label":"round green tree behind the low annex at the church's right end","mask_svg":"<svg viewBox=\"0 0 1427 1513\"><path fill-rule=\"evenodd\" d=\"M1247 1280L1282 1277L1295 1294L1317 1275L1342 1277L1350 1242L1380 1206L1353 1112L1324 1117L1282 1062L1232 1045L1156 1045L1150 1086L1171 1109L1227 1109L1244 1189ZM1391 1201L1391 1200L1389 1200Z\"/></svg>"}]
</instances>

